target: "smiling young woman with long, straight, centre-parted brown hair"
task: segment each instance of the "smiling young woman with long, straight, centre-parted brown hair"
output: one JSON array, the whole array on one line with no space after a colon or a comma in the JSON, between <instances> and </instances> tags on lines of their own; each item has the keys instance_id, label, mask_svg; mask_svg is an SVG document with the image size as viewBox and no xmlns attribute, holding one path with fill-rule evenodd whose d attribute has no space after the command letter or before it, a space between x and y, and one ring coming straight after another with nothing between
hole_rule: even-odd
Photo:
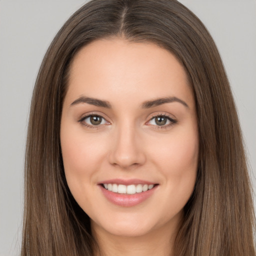
<instances>
[{"instance_id":1,"label":"smiling young woman with long, straight, centre-parted brown hair","mask_svg":"<svg viewBox=\"0 0 256 256\"><path fill-rule=\"evenodd\" d=\"M255 255L216 46L174 0L93 0L53 39L28 126L22 255Z\"/></svg>"}]
</instances>

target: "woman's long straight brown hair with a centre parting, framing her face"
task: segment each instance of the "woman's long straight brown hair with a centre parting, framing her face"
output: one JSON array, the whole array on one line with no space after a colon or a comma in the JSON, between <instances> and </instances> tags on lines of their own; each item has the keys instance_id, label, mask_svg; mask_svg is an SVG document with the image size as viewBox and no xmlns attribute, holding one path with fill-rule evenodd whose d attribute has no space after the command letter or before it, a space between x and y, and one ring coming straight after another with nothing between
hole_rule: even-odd
<instances>
[{"instance_id":1,"label":"woman's long straight brown hair with a centre parting, framing her face","mask_svg":"<svg viewBox=\"0 0 256 256\"><path fill-rule=\"evenodd\" d=\"M241 131L221 58L207 29L176 0L92 0L59 30L36 79L26 144L22 256L92 255L97 246L89 217L66 184L59 128L70 61L82 46L111 37L152 42L169 50L193 88L198 172L173 255L255 255Z\"/></svg>"}]
</instances>

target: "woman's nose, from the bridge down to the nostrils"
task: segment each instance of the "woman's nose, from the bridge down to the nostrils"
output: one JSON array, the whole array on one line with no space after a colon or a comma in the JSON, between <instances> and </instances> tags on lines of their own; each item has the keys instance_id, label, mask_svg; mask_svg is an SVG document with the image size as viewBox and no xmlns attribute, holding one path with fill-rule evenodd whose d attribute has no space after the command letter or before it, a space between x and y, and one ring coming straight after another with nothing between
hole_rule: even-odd
<instances>
[{"instance_id":1,"label":"woman's nose, from the bridge down to the nostrils","mask_svg":"<svg viewBox=\"0 0 256 256\"><path fill-rule=\"evenodd\" d=\"M116 127L110 148L109 162L122 169L142 165L146 160L143 143L132 125Z\"/></svg>"}]
</instances>

